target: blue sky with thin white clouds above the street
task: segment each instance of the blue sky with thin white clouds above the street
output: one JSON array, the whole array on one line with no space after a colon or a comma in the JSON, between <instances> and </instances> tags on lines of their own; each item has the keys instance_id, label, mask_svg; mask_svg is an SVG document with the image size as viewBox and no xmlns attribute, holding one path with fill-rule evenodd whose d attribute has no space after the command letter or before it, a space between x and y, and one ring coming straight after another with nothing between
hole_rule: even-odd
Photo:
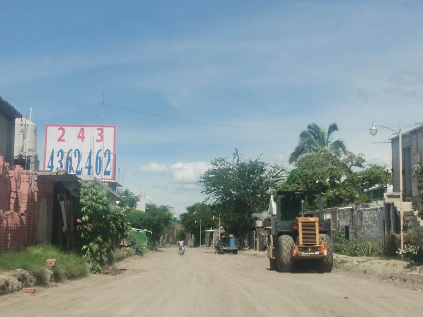
<instances>
[{"instance_id":1,"label":"blue sky with thin white clouds above the street","mask_svg":"<svg viewBox=\"0 0 423 317\"><path fill-rule=\"evenodd\" d=\"M119 182L176 215L215 157L288 164L310 123L391 164L423 121L420 1L3 1L0 95L46 124L117 126ZM116 175L117 176L117 175Z\"/></svg>"}]
</instances>

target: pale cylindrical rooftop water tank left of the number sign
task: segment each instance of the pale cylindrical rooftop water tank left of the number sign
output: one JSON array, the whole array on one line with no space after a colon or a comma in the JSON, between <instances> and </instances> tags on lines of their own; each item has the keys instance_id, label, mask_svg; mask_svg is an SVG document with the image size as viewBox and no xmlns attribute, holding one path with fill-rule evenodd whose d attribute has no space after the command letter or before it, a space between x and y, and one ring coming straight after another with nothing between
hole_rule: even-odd
<instances>
[{"instance_id":1,"label":"pale cylindrical rooftop water tank left of the number sign","mask_svg":"<svg viewBox=\"0 0 423 317\"><path fill-rule=\"evenodd\" d=\"M15 119L15 148L13 156L19 158L37 155L37 125L32 123L27 117Z\"/></svg>"}]
</instances>

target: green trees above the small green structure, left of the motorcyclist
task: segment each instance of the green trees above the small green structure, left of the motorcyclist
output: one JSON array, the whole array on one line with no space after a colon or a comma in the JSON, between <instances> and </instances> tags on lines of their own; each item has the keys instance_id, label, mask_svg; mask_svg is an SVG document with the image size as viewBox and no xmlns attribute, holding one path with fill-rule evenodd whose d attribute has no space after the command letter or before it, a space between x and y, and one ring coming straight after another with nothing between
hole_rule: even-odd
<instances>
[{"instance_id":1,"label":"green trees above the small green structure, left of the motorcyclist","mask_svg":"<svg viewBox=\"0 0 423 317\"><path fill-rule=\"evenodd\" d=\"M132 228L146 229L152 231L153 243L160 240L160 236L166 234L175 220L171 206L147 204L146 212L128 210L127 220Z\"/></svg>"}]
</instances>

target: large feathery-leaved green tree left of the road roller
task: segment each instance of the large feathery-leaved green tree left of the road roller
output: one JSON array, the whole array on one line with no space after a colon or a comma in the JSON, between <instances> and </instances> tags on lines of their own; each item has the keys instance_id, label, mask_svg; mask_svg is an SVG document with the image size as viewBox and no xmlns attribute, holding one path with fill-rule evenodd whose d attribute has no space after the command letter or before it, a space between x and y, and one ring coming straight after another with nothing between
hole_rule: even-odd
<instances>
[{"instance_id":1,"label":"large feathery-leaved green tree left of the road roller","mask_svg":"<svg viewBox=\"0 0 423 317\"><path fill-rule=\"evenodd\" d=\"M286 169L261 160L243 159L238 150L232 160L215 158L201 177L202 193L219 209L225 228L241 241L254 228L253 212L261 212L269 203L269 190L285 179Z\"/></svg>"}]
</instances>

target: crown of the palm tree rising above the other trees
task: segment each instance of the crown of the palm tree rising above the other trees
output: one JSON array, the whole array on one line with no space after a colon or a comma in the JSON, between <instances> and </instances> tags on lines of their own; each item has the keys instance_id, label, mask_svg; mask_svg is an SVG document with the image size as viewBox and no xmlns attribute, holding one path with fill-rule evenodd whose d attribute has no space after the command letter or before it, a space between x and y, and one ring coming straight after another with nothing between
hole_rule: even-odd
<instances>
[{"instance_id":1,"label":"crown of the palm tree rising above the other trees","mask_svg":"<svg viewBox=\"0 0 423 317\"><path fill-rule=\"evenodd\" d=\"M300 141L294 152L289 156L289 162L292 164L300 158L312 153L330 153L338 157L347 154L344 141L338 139L332 142L332 134L338 131L338 126L333 123L326 131L316 124L307 126L300 134Z\"/></svg>"}]
</instances>

